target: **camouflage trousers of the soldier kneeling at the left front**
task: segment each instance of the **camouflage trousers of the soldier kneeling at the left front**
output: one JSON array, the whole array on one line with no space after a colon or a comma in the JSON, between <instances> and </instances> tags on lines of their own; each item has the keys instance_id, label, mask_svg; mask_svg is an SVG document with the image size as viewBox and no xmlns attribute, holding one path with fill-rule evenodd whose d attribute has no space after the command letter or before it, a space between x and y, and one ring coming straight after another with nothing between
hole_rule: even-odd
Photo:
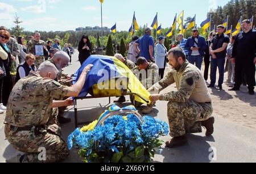
<instances>
[{"instance_id":1,"label":"camouflage trousers of the soldier kneeling at the left front","mask_svg":"<svg viewBox=\"0 0 256 174\"><path fill-rule=\"evenodd\" d=\"M53 163L67 158L67 144L60 136L60 127L56 124L57 109L53 109L52 118L47 129L39 132L15 131L10 125L5 126L5 135L10 144L18 151L24 152L23 161L29 163ZM43 154L45 153L45 154ZM45 157L45 158L43 158Z\"/></svg>"}]
</instances>

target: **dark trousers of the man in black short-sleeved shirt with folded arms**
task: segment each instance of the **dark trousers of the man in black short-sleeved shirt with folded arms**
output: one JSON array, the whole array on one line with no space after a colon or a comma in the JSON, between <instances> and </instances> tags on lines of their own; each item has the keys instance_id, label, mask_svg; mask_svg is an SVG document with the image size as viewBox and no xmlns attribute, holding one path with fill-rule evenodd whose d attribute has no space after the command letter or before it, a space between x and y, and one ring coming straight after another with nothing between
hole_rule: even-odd
<instances>
[{"instance_id":1,"label":"dark trousers of the man in black short-sleeved shirt with folded arms","mask_svg":"<svg viewBox=\"0 0 256 174\"><path fill-rule=\"evenodd\" d=\"M212 59L210 62L210 69L211 69L211 82L210 85L215 85L216 83L216 72L218 67L218 72L220 73L220 77L218 78L218 85L222 85L224 81L224 65L225 59Z\"/></svg>"}]
</instances>

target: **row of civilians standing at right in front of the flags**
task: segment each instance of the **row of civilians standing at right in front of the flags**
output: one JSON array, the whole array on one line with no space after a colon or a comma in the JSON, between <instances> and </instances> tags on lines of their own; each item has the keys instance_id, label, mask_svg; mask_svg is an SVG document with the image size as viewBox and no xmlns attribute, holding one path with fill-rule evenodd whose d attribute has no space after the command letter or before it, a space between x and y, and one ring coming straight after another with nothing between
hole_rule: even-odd
<instances>
[{"instance_id":1,"label":"row of civilians standing at right in front of the flags","mask_svg":"<svg viewBox=\"0 0 256 174\"><path fill-rule=\"evenodd\" d=\"M195 64L201 70L204 61L204 79L208 81L210 68L210 82L208 88L216 86L216 72L218 68L219 77L217 89L222 90L224 84L224 73L228 72L226 82L233 87L229 90L240 90L240 86L247 85L249 94L254 95L255 86L255 32L251 29L250 20L242 21L242 32L229 38L224 34L225 26L217 26L217 33L210 32L207 39L199 35L197 28L192 29L192 36L185 39L183 34L177 35L179 42L174 47L181 47L189 63ZM137 63L138 57L145 57L153 61L159 67L160 79L164 77L166 68L167 49L164 46L163 36L158 38L154 44L150 28L145 29L145 35L141 38L133 37L129 45L127 59ZM226 66L225 66L226 65Z\"/></svg>"}]
</instances>

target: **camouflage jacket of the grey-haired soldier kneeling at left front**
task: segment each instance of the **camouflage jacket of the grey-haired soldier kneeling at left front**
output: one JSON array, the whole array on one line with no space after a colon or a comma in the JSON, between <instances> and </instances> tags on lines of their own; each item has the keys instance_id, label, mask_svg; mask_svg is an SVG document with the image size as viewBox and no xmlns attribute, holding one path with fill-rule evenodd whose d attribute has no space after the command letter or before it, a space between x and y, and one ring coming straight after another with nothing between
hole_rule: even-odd
<instances>
[{"instance_id":1,"label":"camouflage jacket of the grey-haired soldier kneeling at left front","mask_svg":"<svg viewBox=\"0 0 256 174\"><path fill-rule=\"evenodd\" d=\"M5 122L16 127L45 125L51 117L53 100L65 97L68 90L59 82L30 72L11 91Z\"/></svg>"}]
</instances>

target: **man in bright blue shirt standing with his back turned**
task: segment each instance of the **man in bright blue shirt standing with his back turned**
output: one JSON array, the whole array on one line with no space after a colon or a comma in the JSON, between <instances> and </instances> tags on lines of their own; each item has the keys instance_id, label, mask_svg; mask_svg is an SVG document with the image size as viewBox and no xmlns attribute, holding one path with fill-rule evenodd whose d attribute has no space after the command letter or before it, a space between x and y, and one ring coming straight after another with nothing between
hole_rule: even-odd
<instances>
[{"instance_id":1,"label":"man in bright blue shirt standing with his back turned","mask_svg":"<svg viewBox=\"0 0 256 174\"><path fill-rule=\"evenodd\" d=\"M141 57L145 57L147 60L154 61L155 48L154 48L154 38L151 36L151 29L146 27L145 35L139 38L134 44L139 45L141 51ZM135 47L137 49L137 47Z\"/></svg>"}]
</instances>

